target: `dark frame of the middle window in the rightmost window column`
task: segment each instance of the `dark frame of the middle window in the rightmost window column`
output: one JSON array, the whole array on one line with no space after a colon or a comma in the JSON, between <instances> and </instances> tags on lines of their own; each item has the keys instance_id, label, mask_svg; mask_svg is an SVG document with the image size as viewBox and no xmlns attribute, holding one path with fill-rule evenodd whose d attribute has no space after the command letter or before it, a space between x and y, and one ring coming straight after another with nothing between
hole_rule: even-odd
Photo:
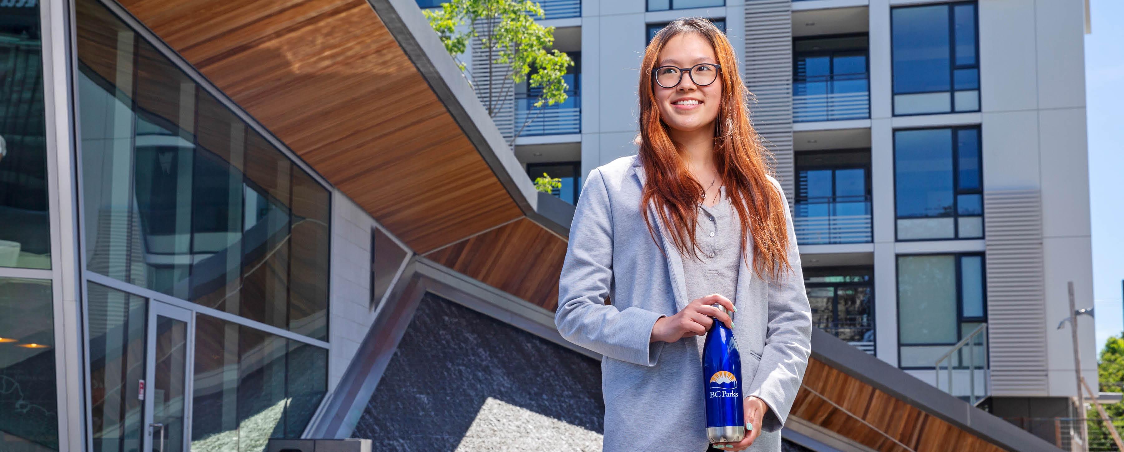
<instances>
[{"instance_id":1,"label":"dark frame of the middle window in the rightmost window column","mask_svg":"<svg viewBox=\"0 0 1124 452\"><path fill-rule=\"evenodd\" d=\"M932 130L932 129L950 129L952 131L952 212L951 216L900 216L898 215L898 148L896 144L896 135L899 131L909 130ZM960 130L975 129L977 132L976 140L976 157L978 159L977 167L980 174L980 187L976 190L961 190L960 188L960 159L958 158L958 151L960 150L959 145L959 133ZM979 194L980 195L980 209L984 207L984 126L982 124L970 124L970 126L933 126L933 127L910 127L894 129L890 135L890 147L892 148L892 160L890 160L890 166L894 170L894 240L900 242L915 242L915 241L948 241L948 240L984 240L987 238L987 232L985 231L985 225L987 224L986 212L980 212L979 218L982 222L980 227L980 237L960 237L960 202L957 200L959 195L968 194ZM977 215L963 215L963 216L977 216ZM933 239L900 239L898 238L898 220L908 219L926 219L926 218L951 218L952 221L952 232L953 237L949 238L933 238Z\"/></svg>"}]
</instances>

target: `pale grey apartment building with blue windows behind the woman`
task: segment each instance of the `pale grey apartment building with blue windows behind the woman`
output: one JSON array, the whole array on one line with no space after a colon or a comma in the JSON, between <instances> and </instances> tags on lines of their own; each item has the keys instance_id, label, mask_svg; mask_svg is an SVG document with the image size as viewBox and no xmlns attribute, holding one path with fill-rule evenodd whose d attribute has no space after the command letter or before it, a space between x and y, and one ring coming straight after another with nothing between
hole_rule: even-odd
<instances>
[{"instance_id":1,"label":"pale grey apartment building with blue windows behind the woman","mask_svg":"<svg viewBox=\"0 0 1124 452\"><path fill-rule=\"evenodd\" d=\"M561 177L572 203L584 174L635 154L644 46L670 20L709 18L792 201L815 325L999 416L1073 415L1055 325L1069 282L1091 305L1080 2L541 4L577 65L571 101L536 111L516 94L497 116L509 136L535 118L515 138L528 176ZM465 59L479 79L480 56Z\"/></svg>"}]
</instances>

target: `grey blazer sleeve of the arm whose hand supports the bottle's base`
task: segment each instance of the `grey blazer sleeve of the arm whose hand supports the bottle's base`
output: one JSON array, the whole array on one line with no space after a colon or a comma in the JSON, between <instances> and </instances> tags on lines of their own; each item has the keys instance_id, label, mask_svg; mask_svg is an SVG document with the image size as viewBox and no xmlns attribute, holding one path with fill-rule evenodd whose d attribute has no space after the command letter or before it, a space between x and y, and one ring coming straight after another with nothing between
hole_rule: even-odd
<instances>
[{"instance_id":1,"label":"grey blazer sleeve of the arm whose hand supports the bottle's base","mask_svg":"<svg viewBox=\"0 0 1124 452\"><path fill-rule=\"evenodd\" d=\"M796 393L804 380L812 353L812 306L804 289L800 252L792 229L792 213L780 183L770 176L780 192L788 229L788 261L792 269L769 282L769 323L765 345L761 353L758 373L747 387L746 396L756 396L769 406L762 419L764 432L776 432L785 425L788 412L796 400Z\"/></svg>"}]
</instances>

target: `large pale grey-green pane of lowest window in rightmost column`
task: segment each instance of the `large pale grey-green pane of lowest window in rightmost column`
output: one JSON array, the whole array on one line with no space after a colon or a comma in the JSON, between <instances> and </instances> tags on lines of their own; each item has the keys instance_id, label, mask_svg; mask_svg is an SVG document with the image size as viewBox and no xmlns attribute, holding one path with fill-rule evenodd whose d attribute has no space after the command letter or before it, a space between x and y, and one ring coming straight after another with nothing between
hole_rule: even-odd
<instances>
[{"instance_id":1,"label":"large pale grey-green pane of lowest window in rightmost column","mask_svg":"<svg viewBox=\"0 0 1124 452\"><path fill-rule=\"evenodd\" d=\"M899 343L957 342L955 257L898 256Z\"/></svg>"}]
</instances>

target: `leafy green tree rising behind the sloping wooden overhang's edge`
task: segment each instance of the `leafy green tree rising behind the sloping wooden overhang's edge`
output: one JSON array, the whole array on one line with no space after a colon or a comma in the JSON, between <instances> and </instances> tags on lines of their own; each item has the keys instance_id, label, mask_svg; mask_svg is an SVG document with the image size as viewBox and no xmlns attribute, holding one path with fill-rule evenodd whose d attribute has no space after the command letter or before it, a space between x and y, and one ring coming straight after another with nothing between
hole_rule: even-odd
<instances>
[{"instance_id":1,"label":"leafy green tree rising behind the sloping wooden overhang's edge","mask_svg":"<svg viewBox=\"0 0 1124 452\"><path fill-rule=\"evenodd\" d=\"M481 99L489 117L495 118L507 95L515 92L517 84L528 79L531 86L542 89L542 94L534 103L536 108L544 103L553 105L565 102L565 90L569 86L563 76L566 67L573 65L573 59L558 49L547 50L554 44L554 27L543 27L535 21L535 17L544 17L543 8L537 2L451 0L442 3L441 8L426 9L423 13L454 59L465 52L472 38L480 38L481 48L477 52L487 53L489 62L488 80L482 82L487 83L488 94ZM464 72L463 62L456 61L456 65ZM535 72L528 77L532 67ZM502 82L493 86L493 75L499 73L504 74ZM469 81L479 95L481 83L472 74L469 74ZM533 120L534 117L529 117L519 126L515 137Z\"/></svg>"}]
</instances>

